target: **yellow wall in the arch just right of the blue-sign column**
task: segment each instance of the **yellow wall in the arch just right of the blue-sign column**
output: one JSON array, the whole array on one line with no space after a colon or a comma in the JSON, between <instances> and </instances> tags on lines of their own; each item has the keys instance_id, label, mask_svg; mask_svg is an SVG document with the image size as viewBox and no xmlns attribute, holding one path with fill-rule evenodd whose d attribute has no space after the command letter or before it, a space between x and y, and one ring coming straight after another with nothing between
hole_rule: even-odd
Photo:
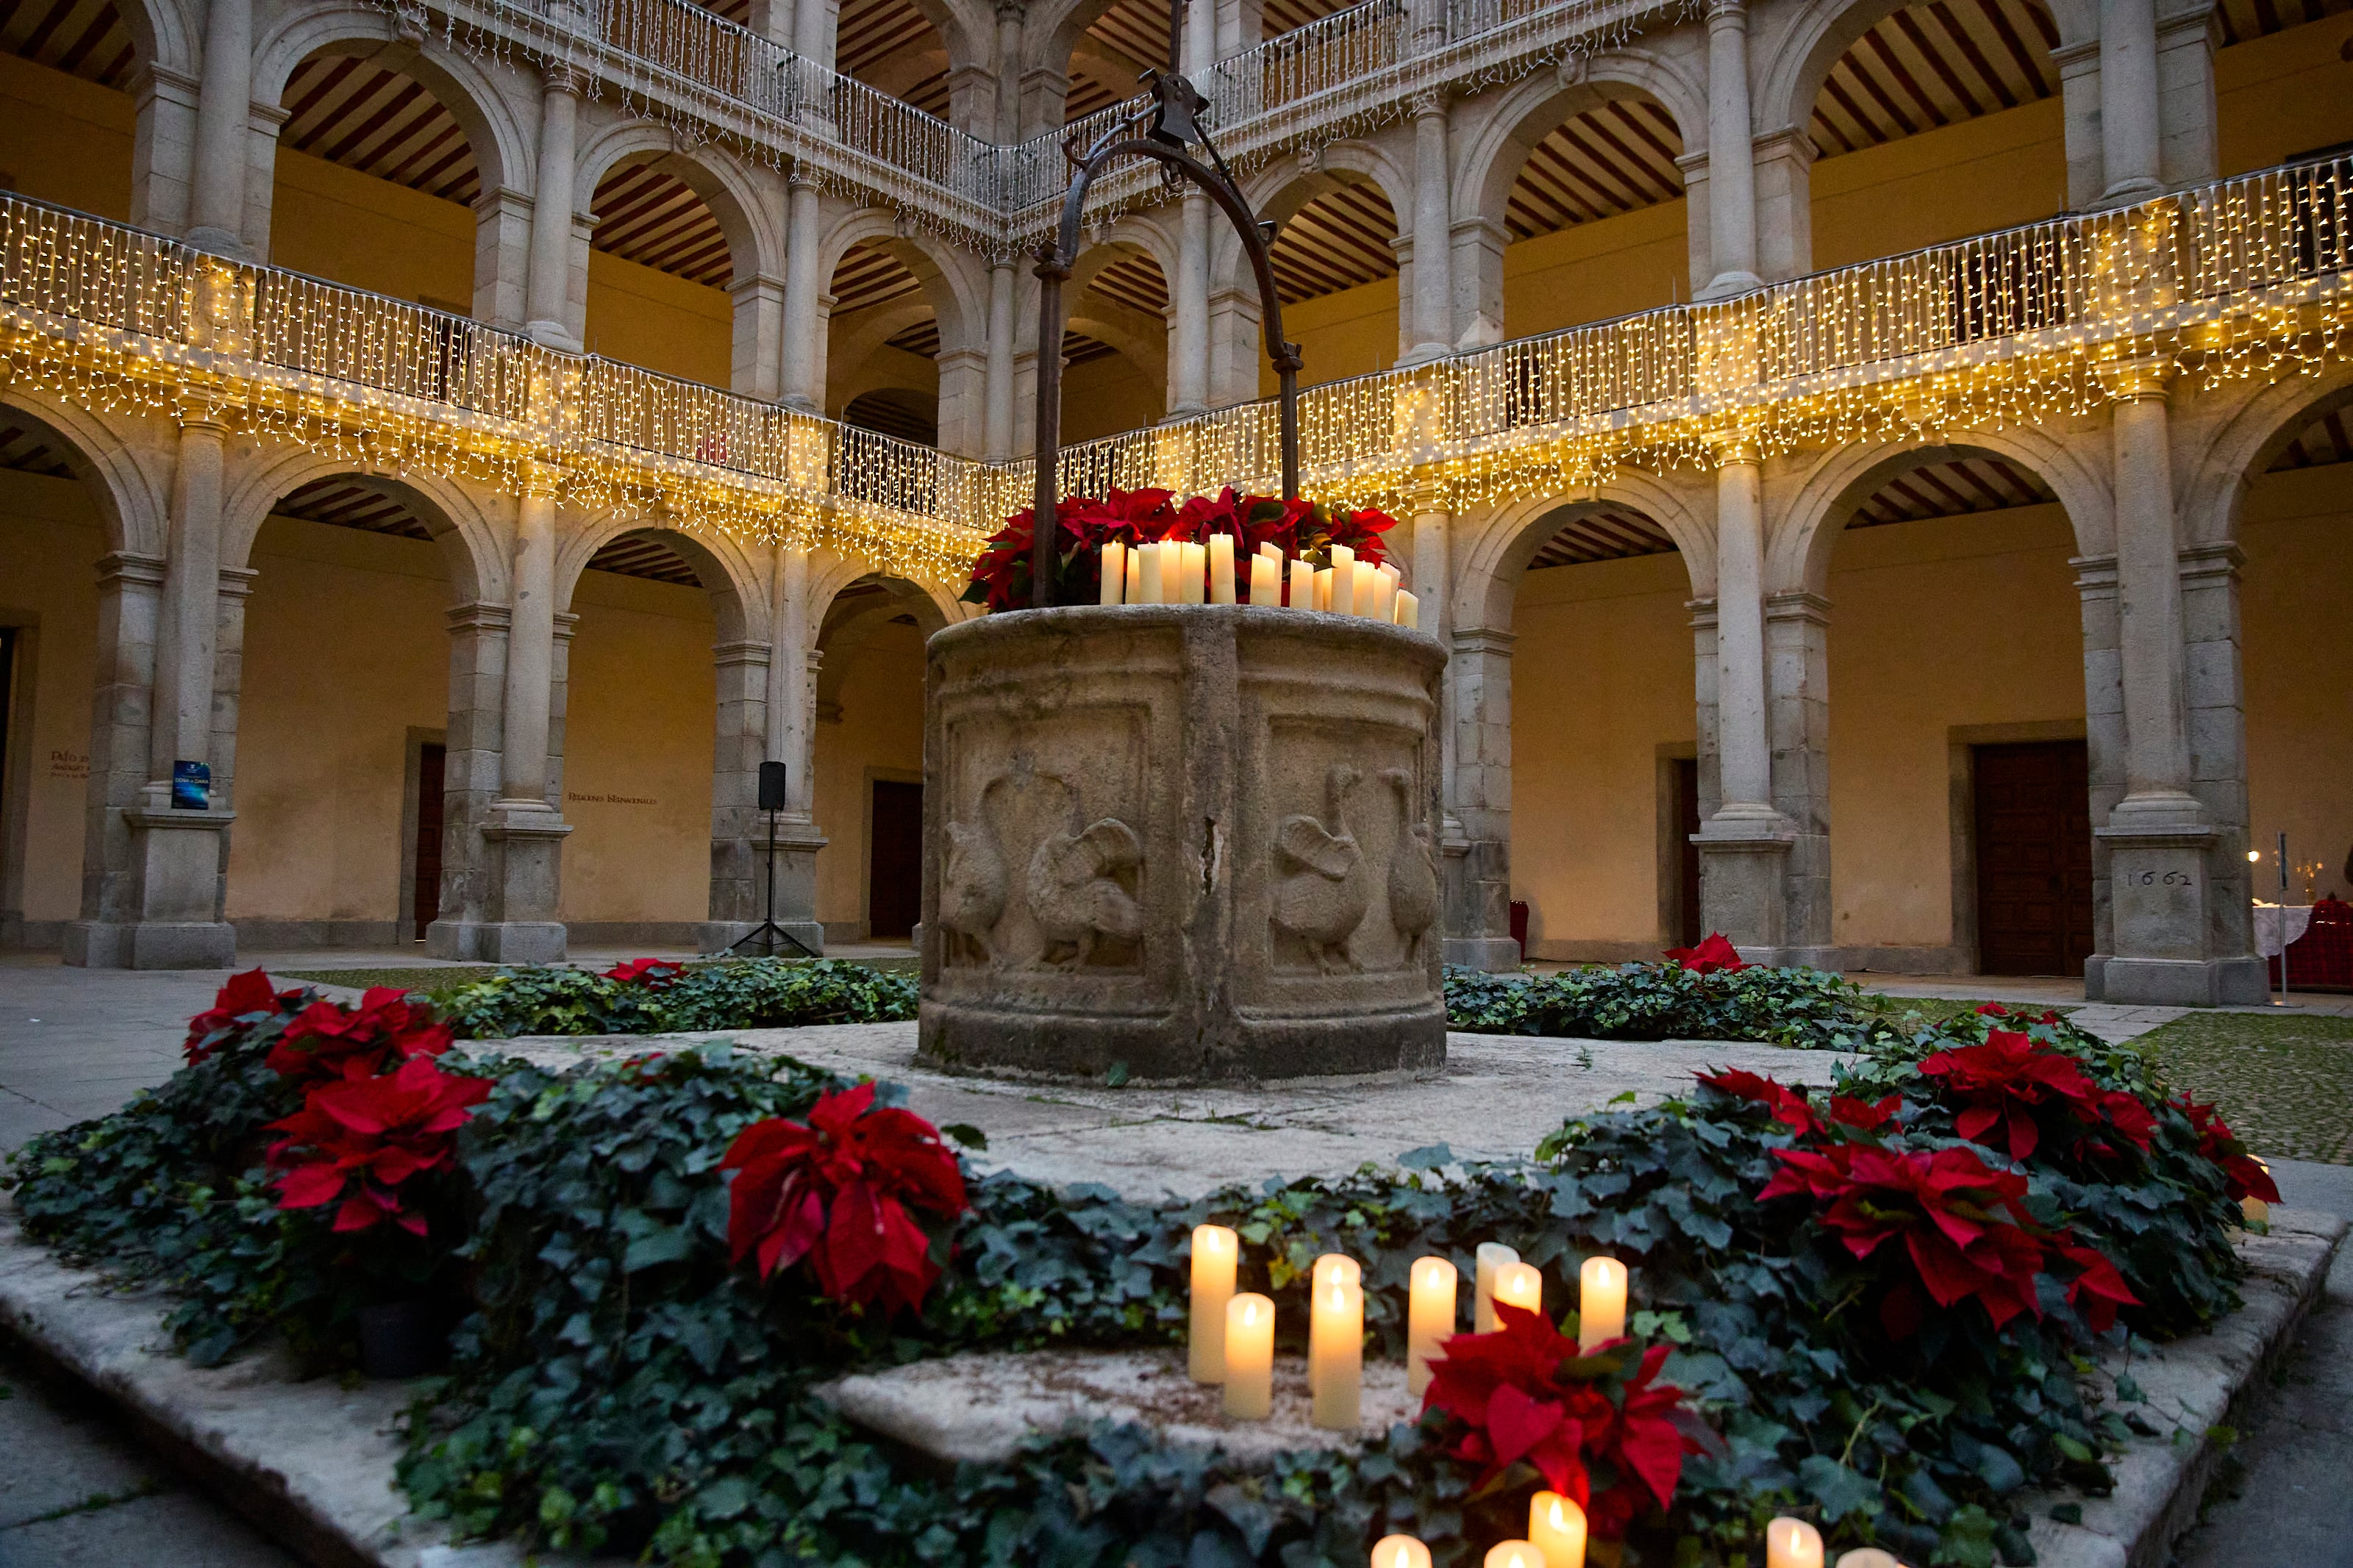
<instances>
[{"instance_id":1,"label":"yellow wall in the arch just right of the blue-sign column","mask_svg":"<svg viewBox=\"0 0 2353 1568\"><path fill-rule=\"evenodd\" d=\"M438 545L271 517L238 703L231 919L400 919L407 731L449 719Z\"/></svg>"}]
</instances>

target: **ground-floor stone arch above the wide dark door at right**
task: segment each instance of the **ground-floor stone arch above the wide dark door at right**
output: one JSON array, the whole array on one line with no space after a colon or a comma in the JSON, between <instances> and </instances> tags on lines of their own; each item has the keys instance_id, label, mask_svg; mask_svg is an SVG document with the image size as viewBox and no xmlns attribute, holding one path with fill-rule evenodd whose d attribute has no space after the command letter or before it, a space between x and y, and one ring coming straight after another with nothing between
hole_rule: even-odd
<instances>
[{"instance_id":1,"label":"ground-floor stone arch above the wide dark door at right","mask_svg":"<svg viewBox=\"0 0 2353 1568\"><path fill-rule=\"evenodd\" d=\"M1892 442L1840 447L1821 458L1779 508L1765 538L1765 592L1824 592L1831 557L1854 508L1887 480L1955 456L1995 456L2042 480L2066 508L2078 555L2115 550L2115 496L2108 484L2106 444L2097 454L2042 430L1969 430L1946 442Z\"/></svg>"}]
</instances>

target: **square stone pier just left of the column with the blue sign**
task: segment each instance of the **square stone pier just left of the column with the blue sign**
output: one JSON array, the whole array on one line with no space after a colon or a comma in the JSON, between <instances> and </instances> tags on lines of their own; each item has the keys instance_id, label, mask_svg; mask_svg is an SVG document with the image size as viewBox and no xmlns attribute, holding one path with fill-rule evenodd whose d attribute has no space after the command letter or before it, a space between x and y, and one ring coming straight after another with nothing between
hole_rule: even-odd
<instances>
[{"instance_id":1,"label":"square stone pier just left of the column with the blue sign","mask_svg":"<svg viewBox=\"0 0 2353 1568\"><path fill-rule=\"evenodd\" d=\"M82 910L64 936L66 961L89 969L129 966L127 931L139 919L129 818L146 802L162 581L165 562L158 555L120 552L99 559L99 658L89 696L89 785L82 797Z\"/></svg>"}]
</instances>

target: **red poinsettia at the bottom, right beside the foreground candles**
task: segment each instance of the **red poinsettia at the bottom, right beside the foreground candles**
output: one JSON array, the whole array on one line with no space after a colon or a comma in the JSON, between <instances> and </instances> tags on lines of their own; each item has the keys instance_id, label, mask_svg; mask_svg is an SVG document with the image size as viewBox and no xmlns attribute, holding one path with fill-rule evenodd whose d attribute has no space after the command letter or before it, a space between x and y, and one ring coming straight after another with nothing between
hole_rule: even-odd
<instances>
[{"instance_id":1,"label":"red poinsettia at the bottom, right beside the foreground candles","mask_svg":"<svg viewBox=\"0 0 2353 1568\"><path fill-rule=\"evenodd\" d=\"M1454 1458L1478 1465L1473 1490L1527 1462L1555 1493L1586 1509L1598 1540L1617 1540L1649 1502L1671 1507L1682 1455L1701 1453L1682 1389L1659 1382L1666 1345L1642 1352L1612 1399L1607 1387L1631 1347L1579 1356L1577 1340L1541 1312L1497 1302L1497 1333L1459 1333L1431 1363L1424 1410L1461 1422ZM1605 1465L1609 1483L1593 1486Z\"/></svg>"}]
</instances>

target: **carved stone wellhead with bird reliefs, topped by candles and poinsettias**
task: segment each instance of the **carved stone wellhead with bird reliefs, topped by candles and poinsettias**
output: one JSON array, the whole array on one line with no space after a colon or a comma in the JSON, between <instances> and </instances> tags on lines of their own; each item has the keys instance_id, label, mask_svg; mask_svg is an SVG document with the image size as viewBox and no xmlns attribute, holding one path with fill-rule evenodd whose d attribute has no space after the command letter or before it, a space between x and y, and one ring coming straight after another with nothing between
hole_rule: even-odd
<instances>
[{"instance_id":1,"label":"carved stone wellhead with bird reliefs, topped by candles and poinsettias","mask_svg":"<svg viewBox=\"0 0 2353 1568\"><path fill-rule=\"evenodd\" d=\"M920 1058L1188 1084L1440 1067L1442 668L1421 632L1247 604L936 632Z\"/></svg>"}]
</instances>

